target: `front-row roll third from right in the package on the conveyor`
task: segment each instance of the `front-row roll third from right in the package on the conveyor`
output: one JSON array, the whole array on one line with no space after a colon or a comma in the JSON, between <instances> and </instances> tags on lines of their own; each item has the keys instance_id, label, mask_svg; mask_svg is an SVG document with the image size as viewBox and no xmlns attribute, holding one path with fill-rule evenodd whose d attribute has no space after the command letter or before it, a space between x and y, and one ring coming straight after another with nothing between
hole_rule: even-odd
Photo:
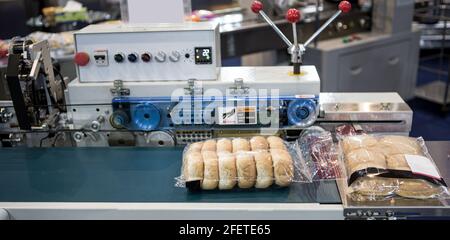
<instances>
[{"instance_id":1,"label":"front-row roll third from right in the package on the conveyor","mask_svg":"<svg viewBox=\"0 0 450 240\"><path fill-rule=\"evenodd\" d=\"M239 188L251 188L256 182L256 165L253 156L248 153L238 153L236 169Z\"/></svg>"}]
</instances>

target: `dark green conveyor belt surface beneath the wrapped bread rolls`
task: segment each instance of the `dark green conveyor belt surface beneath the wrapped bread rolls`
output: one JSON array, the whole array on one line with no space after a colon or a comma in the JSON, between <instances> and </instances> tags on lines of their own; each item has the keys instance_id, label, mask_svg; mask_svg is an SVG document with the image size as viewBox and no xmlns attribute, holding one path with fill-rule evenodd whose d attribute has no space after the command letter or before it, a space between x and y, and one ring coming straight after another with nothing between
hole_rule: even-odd
<instances>
[{"instance_id":1,"label":"dark green conveyor belt surface beneath the wrapped bread rolls","mask_svg":"<svg viewBox=\"0 0 450 240\"><path fill-rule=\"evenodd\" d=\"M182 148L0 149L0 202L340 203L334 181L191 193Z\"/></svg>"}]
</instances>

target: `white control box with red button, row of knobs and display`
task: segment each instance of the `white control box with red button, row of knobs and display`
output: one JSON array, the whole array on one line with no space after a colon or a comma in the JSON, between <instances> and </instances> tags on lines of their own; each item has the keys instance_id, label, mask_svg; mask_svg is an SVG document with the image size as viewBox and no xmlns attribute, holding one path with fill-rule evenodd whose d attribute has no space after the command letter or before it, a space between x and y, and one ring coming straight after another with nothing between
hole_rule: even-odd
<instances>
[{"instance_id":1,"label":"white control box with red button, row of knobs and display","mask_svg":"<svg viewBox=\"0 0 450 240\"><path fill-rule=\"evenodd\" d=\"M80 82L217 80L221 66L213 23L88 26L75 46Z\"/></svg>"}]
</instances>

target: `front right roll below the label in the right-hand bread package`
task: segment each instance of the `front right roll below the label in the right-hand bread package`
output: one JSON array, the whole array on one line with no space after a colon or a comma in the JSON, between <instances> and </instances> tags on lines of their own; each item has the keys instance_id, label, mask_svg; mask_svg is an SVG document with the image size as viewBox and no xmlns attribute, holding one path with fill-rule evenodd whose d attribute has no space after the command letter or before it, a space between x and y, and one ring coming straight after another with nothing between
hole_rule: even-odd
<instances>
[{"instance_id":1,"label":"front right roll below the label in the right-hand bread package","mask_svg":"<svg viewBox=\"0 0 450 240\"><path fill-rule=\"evenodd\" d=\"M405 198L429 199L443 193L443 188L422 179L401 179L397 195Z\"/></svg>"}]
</instances>

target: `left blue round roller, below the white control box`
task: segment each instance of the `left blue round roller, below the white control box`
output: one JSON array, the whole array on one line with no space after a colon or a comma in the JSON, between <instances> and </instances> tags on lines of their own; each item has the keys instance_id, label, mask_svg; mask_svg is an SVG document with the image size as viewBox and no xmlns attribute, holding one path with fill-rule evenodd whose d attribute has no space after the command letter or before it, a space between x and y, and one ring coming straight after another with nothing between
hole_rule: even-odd
<instances>
[{"instance_id":1,"label":"left blue round roller, below the white control box","mask_svg":"<svg viewBox=\"0 0 450 240\"><path fill-rule=\"evenodd\" d=\"M142 103L133 110L133 123L138 130L155 130L161 121L161 114L153 104Z\"/></svg>"}]
</instances>

